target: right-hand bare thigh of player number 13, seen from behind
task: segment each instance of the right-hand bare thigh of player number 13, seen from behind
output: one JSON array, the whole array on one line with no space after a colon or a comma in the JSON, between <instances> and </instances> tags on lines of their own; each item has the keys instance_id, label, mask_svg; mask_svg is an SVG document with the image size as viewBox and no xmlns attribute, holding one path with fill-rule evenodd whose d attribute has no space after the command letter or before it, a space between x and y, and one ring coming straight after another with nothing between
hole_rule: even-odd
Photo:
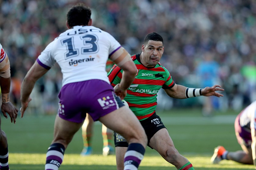
<instances>
[{"instance_id":1,"label":"right-hand bare thigh of player number 13, seen from behind","mask_svg":"<svg viewBox=\"0 0 256 170\"><path fill-rule=\"evenodd\" d=\"M140 138L140 136L145 136L145 131L139 120L126 106L120 107L119 109L100 117L99 121L111 130L122 134L127 141L129 141L131 137Z\"/></svg>"}]
</instances>

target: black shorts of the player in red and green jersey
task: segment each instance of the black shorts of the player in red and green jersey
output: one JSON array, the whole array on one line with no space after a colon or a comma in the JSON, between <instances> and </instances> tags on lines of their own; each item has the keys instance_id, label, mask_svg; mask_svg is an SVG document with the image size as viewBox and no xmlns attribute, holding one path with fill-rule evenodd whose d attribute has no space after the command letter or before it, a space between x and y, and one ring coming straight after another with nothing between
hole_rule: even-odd
<instances>
[{"instance_id":1,"label":"black shorts of the player in red and green jersey","mask_svg":"<svg viewBox=\"0 0 256 170\"><path fill-rule=\"evenodd\" d=\"M146 135L148 137L148 146L149 146L149 141L154 136L154 134L160 129L166 128L163 122L161 121L161 118L156 113L154 113L151 117L148 117L143 121L140 121L140 124L144 128ZM115 147L117 146L128 147L128 143L126 139L122 135L116 132L114 132L114 142L115 142Z\"/></svg>"}]
</instances>

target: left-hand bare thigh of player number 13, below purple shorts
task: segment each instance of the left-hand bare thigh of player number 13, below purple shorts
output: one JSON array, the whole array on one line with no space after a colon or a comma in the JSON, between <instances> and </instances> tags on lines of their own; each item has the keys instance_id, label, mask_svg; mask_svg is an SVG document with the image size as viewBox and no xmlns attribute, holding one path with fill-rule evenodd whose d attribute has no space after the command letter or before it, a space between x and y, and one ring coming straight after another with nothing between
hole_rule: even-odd
<instances>
[{"instance_id":1,"label":"left-hand bare thigh of player number 13, below purple shorts","mask_svg":"<svg viewBox=\"0 0 256 170\"><path fill-rule=\"evenodd\" d=\"M54 141L61 140L68 144L82 124L64 120L57 115L54 124Z\"/></svg>"}]
</instances>

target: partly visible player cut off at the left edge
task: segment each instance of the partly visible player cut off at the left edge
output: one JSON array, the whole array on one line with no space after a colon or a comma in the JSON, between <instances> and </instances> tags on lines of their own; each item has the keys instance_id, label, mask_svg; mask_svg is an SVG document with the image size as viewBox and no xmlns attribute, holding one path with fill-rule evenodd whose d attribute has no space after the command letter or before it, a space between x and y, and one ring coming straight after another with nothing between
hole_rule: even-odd
<instances>
[{"instance_id":1,"label":"partly visible player cut off at the left edge","mask_svg":"<svg viewBox=\"0 0 256 170\"><path fill-rule=\"evenodd\" d=\"M11 122L16 123L18 109L16 109L10 102L9 93L11 86L11 73L10 62L7 54L5 53L2 45L0 44L0 87L2 93L2 106L1 111L5 118L6 113L9 114ZM9 170L8 164L8 143L5 132L1 129L1 116L0 116L0 170Z\"/></svg>"}]
</instances>

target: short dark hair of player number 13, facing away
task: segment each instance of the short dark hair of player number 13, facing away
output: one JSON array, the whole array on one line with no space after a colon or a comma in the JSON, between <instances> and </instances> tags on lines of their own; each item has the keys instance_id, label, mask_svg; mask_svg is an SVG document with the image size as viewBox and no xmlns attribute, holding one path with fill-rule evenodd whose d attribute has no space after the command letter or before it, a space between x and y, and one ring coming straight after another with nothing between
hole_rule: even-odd
<instances>
[{"instance_id":1,"label":"short dark hair of player number 13, facing away","mask_svg":"<svg viewBox=\"0 0 256 170\"><path fill-rule=\"evenodd\" d=\"M91 19L91 9L83 3L72 6L67 12L67 22L72 28L76 25L88 25Z\"/></svg>"}]
</instances>

